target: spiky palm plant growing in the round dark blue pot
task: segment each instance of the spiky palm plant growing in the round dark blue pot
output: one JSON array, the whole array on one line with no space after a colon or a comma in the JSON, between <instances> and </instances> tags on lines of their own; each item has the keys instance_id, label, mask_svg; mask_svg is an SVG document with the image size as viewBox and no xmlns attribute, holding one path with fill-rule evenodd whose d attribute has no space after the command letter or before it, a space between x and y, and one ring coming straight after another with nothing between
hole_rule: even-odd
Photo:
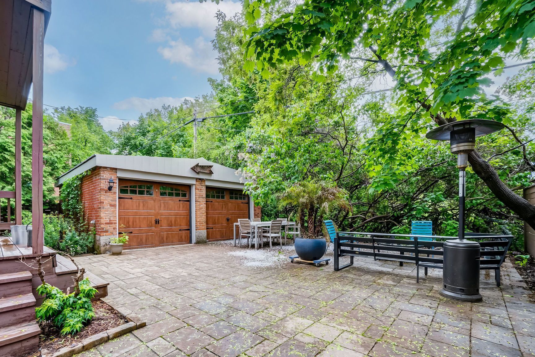
<instances>
[{"instance_id":1,"label":"spiky palm plant growing in the round dark blue pot","mask_svg":"<svg viewBox=\"0 0 535 357\"><path fill-rule=\"evenodd\" d=\"M349 211L347 192L327 181L302 181L278 195L281 207L294 207L303 238L317 238L322 233L323 218L333 207ZM305 220L307 225L305 225Z\"/></svg>"}]
</instances>

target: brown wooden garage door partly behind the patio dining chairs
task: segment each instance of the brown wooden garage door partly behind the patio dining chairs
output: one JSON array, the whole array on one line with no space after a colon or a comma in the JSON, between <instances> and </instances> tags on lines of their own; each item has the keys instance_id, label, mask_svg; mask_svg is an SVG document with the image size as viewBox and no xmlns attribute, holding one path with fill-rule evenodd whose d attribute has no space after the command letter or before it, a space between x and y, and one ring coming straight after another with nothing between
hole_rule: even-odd
<instances>
[{"instance_id":1,"label":"brown wooden garage door partly behind the patio dining chairs","mask_svg":"<svg viewBox=\"0 0 535 357\"><path fill-rule=\"evenodd\" d=\"M249 197L241 190L206 188L206 234L208 241L232 239L233 224L249 218Z\"/></svg>"}]
</instances>

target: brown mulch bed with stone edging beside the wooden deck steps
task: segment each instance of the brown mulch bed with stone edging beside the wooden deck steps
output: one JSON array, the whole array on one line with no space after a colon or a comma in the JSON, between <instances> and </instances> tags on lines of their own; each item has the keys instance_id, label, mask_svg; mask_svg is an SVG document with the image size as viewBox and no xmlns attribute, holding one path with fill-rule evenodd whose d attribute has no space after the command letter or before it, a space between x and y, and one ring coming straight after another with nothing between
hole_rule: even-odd
<instances>
[{"instance_id":1,"label":"brown mulch bed with stone edging beside the wooden deck steps","mask_svg":"<svg viewBox=\"0 0 535 357\"><path fill-rule=\"evenodd\" d=\"M60 348L71 346L79 341L96 335L102 331L110 330L114 327L127 323L128 321L123 315L119 314L111 306L102 300L92 302L95 317L91 323L83 328L82 331L76 335L62 336L59 330L50 323L40 323L41 335L39 335L39 351L30 356L38 357L41 355L41 350L58 351Z\"/></svg>"}]
</instances>

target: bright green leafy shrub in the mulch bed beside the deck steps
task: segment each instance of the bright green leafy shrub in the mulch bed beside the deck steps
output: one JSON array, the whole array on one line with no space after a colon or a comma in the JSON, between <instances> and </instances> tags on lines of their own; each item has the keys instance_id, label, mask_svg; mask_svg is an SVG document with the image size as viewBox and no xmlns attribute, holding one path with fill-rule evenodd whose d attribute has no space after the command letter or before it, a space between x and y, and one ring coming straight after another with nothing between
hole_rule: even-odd
<instances>
[{"instance_id":1,"label":"bright green leafy shrub in the mulch bed beside the deck steps","mask_svg":"<svg viewBox=\"0 0 535 357\"><path fill-rule=\"evenodd\" d=\"M37 293L45 296L45 299L40 307L35 308L37 320L51 322L62 335L80 332L95 316L91 299L95 297L97 290L87 278L83 279L79 286L79 294L73 292L68 295L50 284L38 286Z\"/></svg>"}]
</instances>

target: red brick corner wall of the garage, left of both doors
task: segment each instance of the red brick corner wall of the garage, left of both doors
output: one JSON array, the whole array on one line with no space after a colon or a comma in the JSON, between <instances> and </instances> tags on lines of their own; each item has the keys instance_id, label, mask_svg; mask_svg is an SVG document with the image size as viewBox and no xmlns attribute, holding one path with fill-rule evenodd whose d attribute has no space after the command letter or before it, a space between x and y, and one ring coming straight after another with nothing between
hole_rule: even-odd
<instances>
[{"instance_id":1,"label":"red brick corner wall of the garage, left of both doors","mask_svg":"<svg viewBox=\"0 0 535 357\"><path fill-rule=\"evenodd\" d=\"M108 191L108 180L115 181ZM95 221L97 236L117 234L117 170L97 167L82 180L83 215L87 223Z\"/></svg>"}]
</instances>

